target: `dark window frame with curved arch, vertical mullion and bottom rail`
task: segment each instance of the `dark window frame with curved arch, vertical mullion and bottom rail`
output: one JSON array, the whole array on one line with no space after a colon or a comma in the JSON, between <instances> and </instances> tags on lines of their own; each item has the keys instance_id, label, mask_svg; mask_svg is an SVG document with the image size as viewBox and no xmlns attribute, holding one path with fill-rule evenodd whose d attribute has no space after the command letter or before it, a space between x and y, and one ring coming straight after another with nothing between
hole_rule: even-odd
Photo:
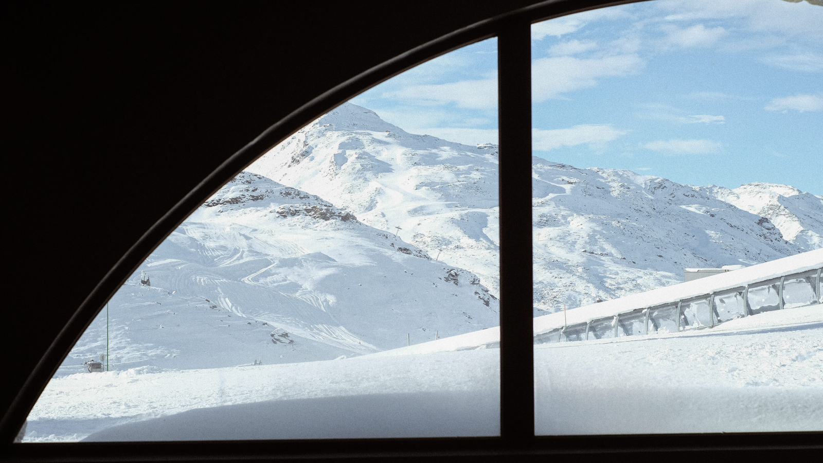
<instances>
[{"instance_id":1,"label":"dark window frame with curved arch, vertical mullion and bottom rail","mask_svg":"<svg viewBox=\"0 0 823 463\"><path fill-rule=\"evenodd\" d=\"M7 410L4 453L19 461L226 460L455 457L682 451L749 453L764 458L823 449L823 433L704 433L538 436L534 428L531 215L531 25L559 16L644 0L548 0L455 30L371 68L317 96L226 159L123 255L74 313L36 364ZM498 38L500 128L500 437L309 439L225 442L76 442L9 445L67 352L128 275L207 198L271 147L319 115L427 60L480 40ZM512 278L516 277L516 278Z\"/></svg>"}]
</instances>

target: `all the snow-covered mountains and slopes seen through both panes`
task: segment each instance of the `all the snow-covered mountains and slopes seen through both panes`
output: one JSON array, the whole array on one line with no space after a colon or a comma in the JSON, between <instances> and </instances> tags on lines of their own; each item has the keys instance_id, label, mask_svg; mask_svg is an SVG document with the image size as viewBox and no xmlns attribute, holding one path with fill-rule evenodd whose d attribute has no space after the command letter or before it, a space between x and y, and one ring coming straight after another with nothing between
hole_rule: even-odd
<instances>
[{"instance_id":1,"label":"all the snow-covered mountains and slopes seen through both panes","mask_svg":"<svg viewBox=\"0 0 823 463\"><path fill-rule=\"evenodd\" d=\"M498 325L497 156L332 110L137 269L109 304L111 362L302 362ZM785 185L680 185L535 157L532 191L536 315L823 246L823 199ZM61 372L104 351L101 313Z\"/></svg>"}]
</instances>

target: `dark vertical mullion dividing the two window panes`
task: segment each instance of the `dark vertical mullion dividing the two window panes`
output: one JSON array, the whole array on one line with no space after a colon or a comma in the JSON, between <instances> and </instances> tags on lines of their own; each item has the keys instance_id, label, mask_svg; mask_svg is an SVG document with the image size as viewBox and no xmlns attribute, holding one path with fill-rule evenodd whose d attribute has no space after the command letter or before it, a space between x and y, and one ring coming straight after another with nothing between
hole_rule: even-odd
<instances>
[{"instance_id":1,"label":"dark vertical mullion dividing the two window panes","mask_svg":"<svg viewBox=\"0 0 823 463\"><path fill-rule=\"evenodd\" d=\"M498 36L500 129L500 435L534 437L531 24Z\"/></svg>"}]
</instances>

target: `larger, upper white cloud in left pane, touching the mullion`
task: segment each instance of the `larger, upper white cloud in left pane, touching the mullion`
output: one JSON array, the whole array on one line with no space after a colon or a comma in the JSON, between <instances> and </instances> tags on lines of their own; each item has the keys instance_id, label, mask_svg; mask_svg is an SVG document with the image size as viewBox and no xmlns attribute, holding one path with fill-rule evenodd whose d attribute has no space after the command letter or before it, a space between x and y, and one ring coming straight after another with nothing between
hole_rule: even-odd
<instances>
[{"instance_id":1,"label":"larger, upper white cloud in left pane, touching the mullion","mask_svg":"<svg viewBox=\"0 0 823 463\"><path fill-rule=\"evenodd\" d=\"M416 105L456 103L461 108L494 108L497 106L497 79L415 85L398 91L387 91L383 97Z\"/></svg>"}]
</instances>

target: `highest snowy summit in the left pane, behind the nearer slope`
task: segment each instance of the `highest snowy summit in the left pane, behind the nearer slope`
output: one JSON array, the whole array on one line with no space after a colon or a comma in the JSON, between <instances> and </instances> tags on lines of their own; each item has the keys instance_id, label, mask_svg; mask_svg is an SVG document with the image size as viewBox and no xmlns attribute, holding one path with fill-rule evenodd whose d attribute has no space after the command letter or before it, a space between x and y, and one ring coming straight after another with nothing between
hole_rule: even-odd
<instances>
[{"instance_id":1,"label":"highest snowy summit in the left pane, behind the nearer slope","mask_svg":"<svg viewBox=\"0 0 823 463\"><path fill-rule=\"evenodd\" d=\"M498 291L497 147L416 135L346 103L249 166Z\"/></svg>"}]
</instances>

